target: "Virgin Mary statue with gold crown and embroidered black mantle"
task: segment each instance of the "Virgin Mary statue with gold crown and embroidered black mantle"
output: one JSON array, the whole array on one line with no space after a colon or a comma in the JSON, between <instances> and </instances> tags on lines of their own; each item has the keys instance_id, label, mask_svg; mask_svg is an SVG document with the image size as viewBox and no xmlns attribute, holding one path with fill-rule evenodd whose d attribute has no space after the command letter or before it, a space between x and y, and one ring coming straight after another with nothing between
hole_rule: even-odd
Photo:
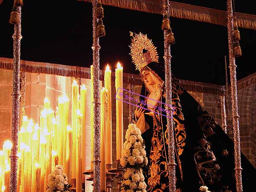
<instances>
[{"instance_id":1,"label":"Virgin Mary statue with gold crown and embroidered black mantle","mask_svg":"<svg viewBox=\"0 0 256 192\"><path fill-rule=\"evenodd\" d=\"M164 66L147 35L131 36L130 55L144 82L134 123L143 133L149 159L144 170L147 191L169 192ZM172 106L176 192L198 192L202 186L210 192L236 192L233 141L173 76ZM256 169L243 154L241 166L243 191L251 192Z\"/></svg>"}]
</instances>

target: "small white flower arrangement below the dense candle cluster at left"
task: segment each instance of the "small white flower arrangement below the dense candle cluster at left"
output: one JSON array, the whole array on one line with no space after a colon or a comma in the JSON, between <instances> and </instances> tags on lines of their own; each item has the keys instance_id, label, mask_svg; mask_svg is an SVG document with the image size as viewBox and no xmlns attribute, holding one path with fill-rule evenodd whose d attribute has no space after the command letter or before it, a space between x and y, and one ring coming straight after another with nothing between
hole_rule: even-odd
<instances>
[{"instance_id":1,"label":"small white flower arrangement below the dense candle cluster at left","mask_svg":"<svg viewBox=\"0 0 256 192\"><path fill-rule=\"evenodd\" d=\"M70 192L67 175L63 173L63 166L56 165L47 179L47 192Z\"/></svg>"}]
</instances>

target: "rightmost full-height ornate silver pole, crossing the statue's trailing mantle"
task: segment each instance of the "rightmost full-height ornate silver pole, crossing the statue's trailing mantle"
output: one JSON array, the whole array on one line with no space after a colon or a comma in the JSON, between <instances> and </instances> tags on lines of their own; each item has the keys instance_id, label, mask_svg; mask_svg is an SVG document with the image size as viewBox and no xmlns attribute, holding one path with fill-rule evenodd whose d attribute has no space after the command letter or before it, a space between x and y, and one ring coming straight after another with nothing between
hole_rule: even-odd
<instances>
[{"instance_id":1,"label":"rightmost full-height ornate silver pole, crossing the statue's trailing mantle","mask_svg":"<svg viewBox=\"0 0 256 192\"><path fill-rule=\"evenodd\" d=\"M234 41L233 41L233 11L232 0L227 0L227 34L228 34L228 48L230 61L230 82L231 82L231 103L232 103L232 119L233 132L235 144L235 171L236 171L236 191L242 192L242 175L241 175L241 154L240 154L240 136L239 136L239 115L237 102L237 87L236 87L236 63L234 55Z\"/></svg>"}]
</instances>

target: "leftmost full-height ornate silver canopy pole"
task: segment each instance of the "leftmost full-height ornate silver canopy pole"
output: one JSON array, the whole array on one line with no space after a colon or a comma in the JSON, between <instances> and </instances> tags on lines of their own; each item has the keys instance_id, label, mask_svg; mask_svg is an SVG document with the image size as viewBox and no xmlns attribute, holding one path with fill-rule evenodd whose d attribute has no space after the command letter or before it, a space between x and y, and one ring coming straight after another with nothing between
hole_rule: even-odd
<instances>
[{"instance_id":1,"label":"leftmost full-height ornate silver canopy pole","mask_svg":"<svg viewBox=\"0 0 256 192\"><path fill-rule=\"evenodd\" d=\"M12 150L10 171L10 192L17 191L18 131L20 114L20 39L21 6L17 6L18 22L14 25L13 38L13 79L12 79Z\"/></svg>"}]
</instances>

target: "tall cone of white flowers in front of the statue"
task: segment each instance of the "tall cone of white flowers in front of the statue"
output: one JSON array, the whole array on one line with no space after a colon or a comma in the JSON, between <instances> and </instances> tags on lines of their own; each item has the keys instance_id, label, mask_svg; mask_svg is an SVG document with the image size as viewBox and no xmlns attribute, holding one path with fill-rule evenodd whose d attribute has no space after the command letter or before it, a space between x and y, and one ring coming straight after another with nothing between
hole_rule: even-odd
<instances>
[{"instance_id":1,"label":"tall cone of white flowers in front of the statue","mask_svg":"<svg viewBox=\"0 0 256 192\"><path fill-rule=\"evenodd\" d=\"M146 192L142 168L148 164L141 131L134 123L128 125L120 165L125 169L122 192Z\"/></svg>"}]
</instances>

